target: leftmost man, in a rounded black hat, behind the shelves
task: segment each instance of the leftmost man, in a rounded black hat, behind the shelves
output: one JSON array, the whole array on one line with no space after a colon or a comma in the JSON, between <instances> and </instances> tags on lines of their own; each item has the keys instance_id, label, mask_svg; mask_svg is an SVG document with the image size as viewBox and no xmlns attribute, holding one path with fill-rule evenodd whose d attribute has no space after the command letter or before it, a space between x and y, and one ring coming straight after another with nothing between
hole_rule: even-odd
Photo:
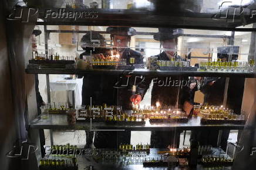
<instances>
[{"instance_id":1,"label":"leftmost man, in a rounded black hat, behind the shelves","mask_svg":"<svg viewBox=\"0 0 256 170\"><path fill-rule=\"evenodd\" d=\"M92 42L93 40L99 40L99 43ZM96 58L104 58L107 56L107 49L105 38L97 32L91 31L83 35L80 40L80 45L85 52L80 54L80 59L83 59L83 56L90 56ZM85 74L79 75L78 78L83 78L82 86L82 105L90 106L90 97L92 97L92 105L101 105L103 103L113 104L113 87L111 83L102 83L109 82L109 76L103 75L93 75ZM92 148L93 146L93 131L86 131L86 145L85 148Z\"/></svg>"}]
</instances>

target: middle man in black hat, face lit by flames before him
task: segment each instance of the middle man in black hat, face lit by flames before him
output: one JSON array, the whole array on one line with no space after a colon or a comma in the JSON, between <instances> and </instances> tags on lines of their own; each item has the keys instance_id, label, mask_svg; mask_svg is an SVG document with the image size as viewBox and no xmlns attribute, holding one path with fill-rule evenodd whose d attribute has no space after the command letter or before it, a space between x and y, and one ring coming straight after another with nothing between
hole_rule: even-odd
<instances>
[{"instance_id":1,"label":"middle man in black hat, face lit by flames before him","mask_svg":"<svg viewBox=\"0 0 256 170\"><path fill-rule=\"evenodd\" d=\"M143 64L142 55L129 48L131 37L133 35L136 35L135 29L127 27L109 27L106 31L110 33L110 38L112 39L114 45L112 47L113 55L119 54L120 59L126 59L127 65L132 64L130 63L131 57L134 58L134 64ZM115 104L118 106L122 106L123 110L132 110L132 103L129 100L129 96L132 94L132 81L129 81L129 84L127 84L126 87L122 86L116 88L116 86L118 86L116 83L126 81L127 77L123 75L118 77L112 76L110 77L110 79L115 81L114 87L112 85L112 90L110 91L114 96L114 103L112 105ZM133 77L130 77L130 80L132 79ZM118 134L117 132L114 131L97 131L95 133L94 145L96 148L117 148L117 146L120 145L121 143L130 144L130 136L130 131L118 132Z\"/></svg>"}]
</instances>

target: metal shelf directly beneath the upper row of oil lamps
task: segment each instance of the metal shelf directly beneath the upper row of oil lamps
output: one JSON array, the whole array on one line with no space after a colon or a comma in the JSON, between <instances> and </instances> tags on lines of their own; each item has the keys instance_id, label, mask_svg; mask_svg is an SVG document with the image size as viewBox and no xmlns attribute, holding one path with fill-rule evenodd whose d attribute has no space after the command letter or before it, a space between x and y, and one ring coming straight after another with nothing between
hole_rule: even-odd
<instances>
[{"instance_id":1,"label":"metal shelf directly beneath the upper row of oil lamps","mask_svg":"<svg viewBox=\"0 0 256 170\"><path fill-rule=\"evenodd\" d=\"M256 73L242 73L242 72L194 72L194 71L151 71L147 69L135 69L135 70L104 70L104 69L93 69L93 70L66 70L66 69L26 69L28 74L137 74L142 76L201 76L201 77L246 77L256 78Z\"/></svg>"}]
</instances>

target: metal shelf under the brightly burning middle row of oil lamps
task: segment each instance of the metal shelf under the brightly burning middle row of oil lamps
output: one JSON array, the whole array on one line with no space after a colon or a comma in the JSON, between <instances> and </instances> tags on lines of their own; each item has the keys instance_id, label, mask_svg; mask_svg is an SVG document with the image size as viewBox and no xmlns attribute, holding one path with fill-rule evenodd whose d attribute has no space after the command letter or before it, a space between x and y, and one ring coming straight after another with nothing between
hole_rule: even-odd
<instances>
[{"instance_id":1,"label":"metal shelf under the brightly burning middle row of oil lamps","mask_svg":"<svg viewBox=\"0 0 256 170\"><path fill-rule=\"evenodd\" d=\"M90 123L77 122L75 126L69 126L66 115L50 114L48 119L35 118L30 123L30 128L35 129L63 129L63 130L90 130ZM244 125L241 124L208 124L200 123L200 117L191 118L188 123L171 123L171 124L150 124L146 120L145 125L108 125L105 123L92 123L92 130L130 130L130 131L170 131L170 130L242 130Z\"/></svg>"}]
</instances>

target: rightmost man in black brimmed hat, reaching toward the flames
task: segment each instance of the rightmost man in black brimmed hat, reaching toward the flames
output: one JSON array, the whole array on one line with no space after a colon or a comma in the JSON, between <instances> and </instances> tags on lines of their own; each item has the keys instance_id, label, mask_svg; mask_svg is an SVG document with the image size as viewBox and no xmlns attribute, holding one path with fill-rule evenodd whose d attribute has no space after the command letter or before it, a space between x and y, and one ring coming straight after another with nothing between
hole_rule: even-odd
<instances>
[{"instance_id":1,"label":"rightmost man in black brimmed hat, reaching toward the flames","mask_svg":"<svg viewBox=\"0 0 256 170\"><path fill-rule=\"evenodd\" d=\"M183 34L182 29L159 28L159 33L154 35L155 40L160 40L160 45L164 51L156 55L158 60L183 60L177 55L178 36ZM151 91L151 105L156 106L157 103L161 106L180 106L184 103L184 95L187 93L186 86L182 86L181 82L186 82L188 77L181 75L171 77L154 77L147 76L144 81L137 87L137 94L130 97L134 104L139 104L149 89L151 80L153 80L153 88ZM167 82L167 84L166 84ZM178 82L178 86L173 82ZM163 84L165 83L165 84ZM179 131L152 131L151 146L154 148L165 148L168 145L173 147L179 146L180 132Z\"/></svg>"}]
</instances>

